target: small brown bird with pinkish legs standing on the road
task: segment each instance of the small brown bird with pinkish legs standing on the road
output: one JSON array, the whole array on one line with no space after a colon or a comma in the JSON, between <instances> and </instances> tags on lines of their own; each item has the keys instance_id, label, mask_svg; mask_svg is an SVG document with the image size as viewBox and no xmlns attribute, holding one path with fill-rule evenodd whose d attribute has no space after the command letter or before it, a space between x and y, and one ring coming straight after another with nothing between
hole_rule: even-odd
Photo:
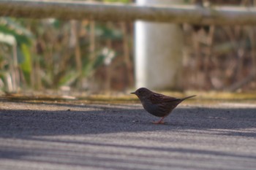
<instances>
[{"instance_id":1,"label":"small brown bird with pinkish legs standing on the road","mask_svg":"<svg viewBox=\"0 0 256 170\"><path fill-rule=\"evenodd\" d=\"M167 115L169 115L170 112L172 112L173 109L181 103L181 101L184 101L187 98L195 97L194 95L185 98L174 98L159 93L154 93L147 88L139 88L135 92L132 92L132 94L135 94L138 96L138 98L140 98L140 102L147 112L149 112L151 115L162 117L159 121L153 122L154 124L164 123L162 120L164 120L164 118L167 117Z\"/></svg>"}]
</instances>

